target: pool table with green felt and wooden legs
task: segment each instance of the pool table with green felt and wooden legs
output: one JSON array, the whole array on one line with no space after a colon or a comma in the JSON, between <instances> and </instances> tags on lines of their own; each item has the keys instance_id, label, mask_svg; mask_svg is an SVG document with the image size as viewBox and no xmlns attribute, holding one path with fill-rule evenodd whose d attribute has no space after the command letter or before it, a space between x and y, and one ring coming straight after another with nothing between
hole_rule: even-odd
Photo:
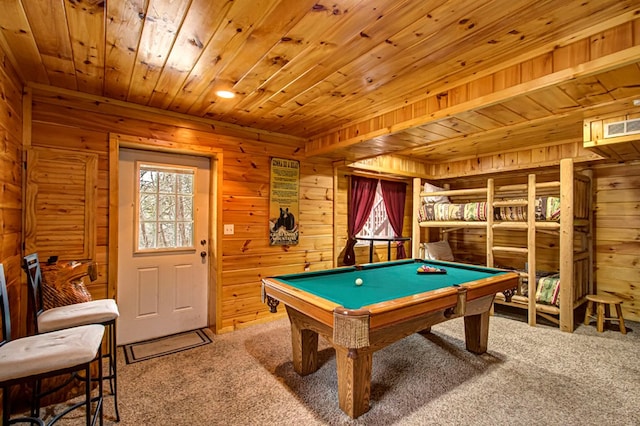
<instances>
[{"instance_id":1,"label":"pool table with green felt and wooden legs","mask_svg":"<svg viewBox=\"0 0 640 426\"><path fill-rule=\"evenodd\" d=\"M271 312L286 307L298 374L318 369L318 334L333 345L339 405L356 418L369 410L375 351L463 316L467 350L484 353L493 299L517 284L514 272L410 259L264 278L262 294Z\"/></svg>"}]
</instances>

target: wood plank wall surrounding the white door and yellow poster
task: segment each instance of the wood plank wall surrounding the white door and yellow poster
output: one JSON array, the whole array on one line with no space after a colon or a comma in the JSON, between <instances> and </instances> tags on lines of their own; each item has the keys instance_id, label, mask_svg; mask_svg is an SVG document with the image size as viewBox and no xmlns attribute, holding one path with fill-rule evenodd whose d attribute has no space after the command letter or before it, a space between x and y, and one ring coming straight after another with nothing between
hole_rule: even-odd
<instances>
[{"instance_id":1,"label":"wood plank wall surrounding the white door and yellow poster","mask_svg":"<svg viewBox=\"0 0 640 426\"><path fill-rule=\"evenodd\" d=\"M274 134L256 133L251 137L250 132L238 129L238 135L225 136L202 120L34 88L32 144L95 152L99 156L96 260L100 266L98 280L89 287L94 297L107 295L110 132L223 150L223 214L218 220L234 224L235 234L222 236L222 288L218 293L222 311L216 324L218 331L272 318L261 300L263 276L332 266L333 167L329 160L305 160L302 142ZM242 133L246 136L239 136ZM300 244L296 246L269 246L271 156L301 160Z\"/></svg>"}]
</instances>

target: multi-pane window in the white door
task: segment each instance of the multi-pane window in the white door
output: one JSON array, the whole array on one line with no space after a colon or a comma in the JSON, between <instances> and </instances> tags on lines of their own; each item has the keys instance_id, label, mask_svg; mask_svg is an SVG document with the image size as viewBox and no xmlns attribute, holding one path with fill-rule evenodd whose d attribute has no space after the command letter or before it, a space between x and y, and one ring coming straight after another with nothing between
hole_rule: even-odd
<instances>
[{"instance_id":1,"label":"multi-pane window in the white door","mask_svg":"<svg viewBox=\"0 0 640 426\"><path fill-rule=\"evenodd\" d=\"M195 168L136 163L136 252L194 249Z\"/></svg>"}]
</instances>

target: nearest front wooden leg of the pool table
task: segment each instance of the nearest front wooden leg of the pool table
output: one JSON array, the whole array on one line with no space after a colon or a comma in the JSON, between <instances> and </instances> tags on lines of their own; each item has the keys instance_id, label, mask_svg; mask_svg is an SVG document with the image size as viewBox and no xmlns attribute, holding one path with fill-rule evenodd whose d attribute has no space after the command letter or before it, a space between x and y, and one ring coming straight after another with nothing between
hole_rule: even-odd
<instances>
[{"instance_id":1,"label":"nearest front wooden leg of the pool table","mask_svg":"<svg viewBox=\"0 0 640 426\"><path fill-rule=\"evenodd\" d=\"M338 402L351 418L369 411L373 353L335 346L338 371Z\"/></svg>"}]
</instances>

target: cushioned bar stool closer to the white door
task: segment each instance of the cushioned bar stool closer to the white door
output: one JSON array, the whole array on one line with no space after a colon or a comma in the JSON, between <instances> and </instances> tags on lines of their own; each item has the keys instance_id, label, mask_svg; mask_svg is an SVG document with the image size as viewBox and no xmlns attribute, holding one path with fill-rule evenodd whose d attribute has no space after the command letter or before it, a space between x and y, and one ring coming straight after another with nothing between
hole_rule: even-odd
<instances>
[{"instance_id":1,"label":"cushioned bar stool closer to the white door","mask_svg":"<svg viewBox=\"0 0 640 426\"><path fill-rule=\"evenodd\" d=\"M116 346L116 319L120 316L118 305L113 299L91 300L89 302L74 303L52 309L43 309L42 301L42 271L38 254L33 253L24 257L24 270L31 286L30 299L35 316L36 333L46 333L70 327L87 324L101 324L107 328L107 351L102 355L109 361L109 374L102 377L109 380L113 395L116 421L120 421L118 411L118 372Z\"/></svg>"}]
</instances>

